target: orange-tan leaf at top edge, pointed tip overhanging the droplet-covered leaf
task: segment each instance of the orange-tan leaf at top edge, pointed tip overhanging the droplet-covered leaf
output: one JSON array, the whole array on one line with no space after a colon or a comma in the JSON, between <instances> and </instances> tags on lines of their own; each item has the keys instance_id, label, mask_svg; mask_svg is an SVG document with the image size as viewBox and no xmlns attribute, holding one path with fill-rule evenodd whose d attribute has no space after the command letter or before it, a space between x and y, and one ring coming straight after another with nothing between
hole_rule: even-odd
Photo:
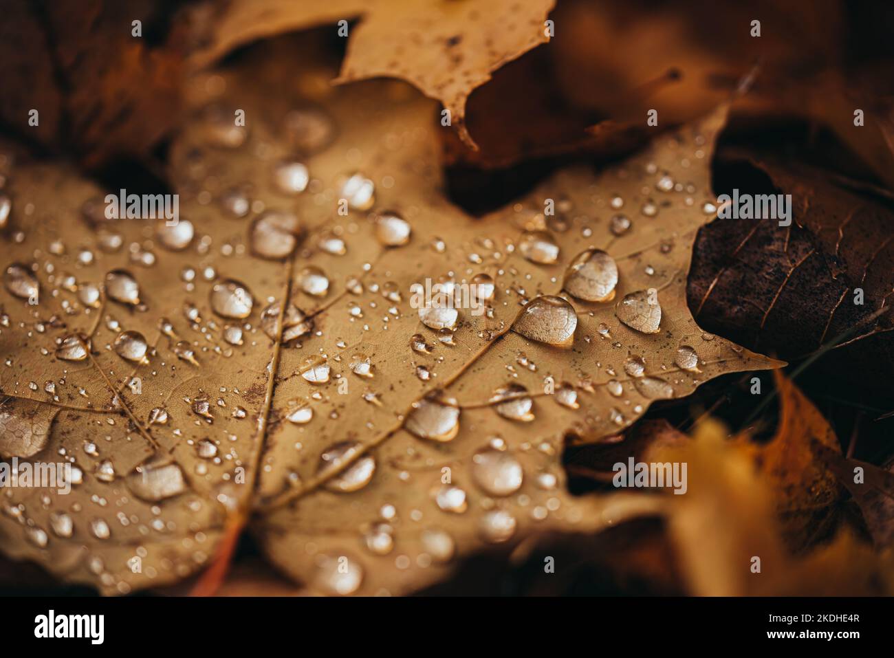
<instances>
[{"instance_id":1,"label":"orange-tan leaf at top edge, pointed tip overhanging the droplet-covered leaf","mask_svg":"<svg viewBox=\"0 0 894 658\"><path fill-rule=\"evenodd\" d=\"M491 73L549 40L555 0L234 0L193 55L205 66L235 46L287 30L353 20L338 82L387 76L408 80L441 101L451 125L475 148L465 124L466 99ZM334 28L333 28L334 29Z\"/></svg>"}]
</instances>

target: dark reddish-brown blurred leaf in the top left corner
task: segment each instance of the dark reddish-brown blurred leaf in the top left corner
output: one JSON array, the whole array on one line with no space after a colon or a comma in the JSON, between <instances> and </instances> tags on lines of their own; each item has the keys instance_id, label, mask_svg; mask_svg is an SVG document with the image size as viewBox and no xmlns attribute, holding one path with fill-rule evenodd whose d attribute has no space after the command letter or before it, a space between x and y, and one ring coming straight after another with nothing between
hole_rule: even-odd
<instances>
[{"instance_id":1,"label":"dark reddish-brown blurred leaf in the top left corner","mask_svg":"<svg viewBox=\"0 0 894 658\"><path fill-rule=\"evenodd\" d=\"M4 3L0 120L88 167L144 156L179 118L188 26L169 11L149 0Z\"/></svg>"}]
</instances>

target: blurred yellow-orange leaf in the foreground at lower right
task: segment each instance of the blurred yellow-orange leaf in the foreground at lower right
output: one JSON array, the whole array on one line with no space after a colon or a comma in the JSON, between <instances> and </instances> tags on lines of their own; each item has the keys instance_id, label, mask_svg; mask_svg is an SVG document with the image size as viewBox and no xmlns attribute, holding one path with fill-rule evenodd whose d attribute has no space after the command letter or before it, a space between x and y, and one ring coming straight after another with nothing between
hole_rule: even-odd
<instances>
[{"instance_id":1,"label":"blurred yellow-orange leaf in the foreground at lower right","mask_svg":"<svg viewBox=\"0 0 894 658\"><path fill-rule=\"evenodd\" d=\"M687 462L687 495L666 496L671 541L693 595L890 595L894 555L848 530L799 557L786 550L775 487L715 421L650 459ZM753 570L760 559L760 571Z\"/></svg>"}]
</instances>

